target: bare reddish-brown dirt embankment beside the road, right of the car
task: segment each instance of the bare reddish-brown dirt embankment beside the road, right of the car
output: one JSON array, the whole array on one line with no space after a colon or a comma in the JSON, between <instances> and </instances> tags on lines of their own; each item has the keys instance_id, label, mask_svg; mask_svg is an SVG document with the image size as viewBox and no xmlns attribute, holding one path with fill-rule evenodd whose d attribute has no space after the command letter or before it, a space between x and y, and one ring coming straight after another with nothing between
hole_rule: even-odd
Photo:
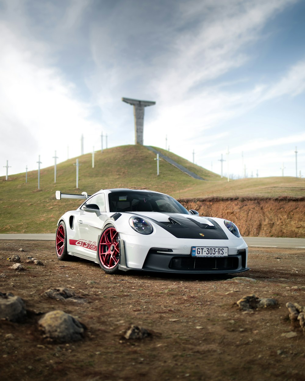
<instances>
[{"instance_id":1,"label":"bare reddish-brown dirt embankment beside the road, right of the car","mask_svg":"<svg viewBox=\"0 0 305 381\"><path fill-rule=\"evenodd\" d=\"M179 201L201 216L233 221L245 237L305 237L305 197L209 197Z\"/></svg>"}]
</instances>

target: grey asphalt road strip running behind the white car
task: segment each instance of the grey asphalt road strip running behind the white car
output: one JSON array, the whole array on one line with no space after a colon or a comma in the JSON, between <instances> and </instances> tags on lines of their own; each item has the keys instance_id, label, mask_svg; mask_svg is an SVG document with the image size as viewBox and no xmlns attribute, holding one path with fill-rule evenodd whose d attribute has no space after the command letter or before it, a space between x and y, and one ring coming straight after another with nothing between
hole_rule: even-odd
<instances>
[{"instance_id":1,"label":"grey asphalt road strip running behind the white car","mask_svg":"<svg viewBox=\"0 0 305 381\"><path fill-rule=\"evenodd\" d=\"M243 237L249 247L305 249L305 238ZM2 239L55 241L55 234L0 234Z\"/></svg>"}]
</instances>

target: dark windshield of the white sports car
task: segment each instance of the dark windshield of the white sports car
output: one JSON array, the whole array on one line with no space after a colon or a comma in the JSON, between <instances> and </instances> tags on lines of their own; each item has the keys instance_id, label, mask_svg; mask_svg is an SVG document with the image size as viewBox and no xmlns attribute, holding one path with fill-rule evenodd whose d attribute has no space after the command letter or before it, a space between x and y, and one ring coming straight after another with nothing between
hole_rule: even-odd
<instances>
[{"instance_id":1,"label":"dark windshield of the white sports car","mask_svg":"<svg viewBox=\"0 0 305 381\"><path fill-rule=\"evenodd\" d=\"M111 212L161 212L189 214L177 200L170 196L145 191L118 191L109 193Z\"/></svg>"}]
</instances>

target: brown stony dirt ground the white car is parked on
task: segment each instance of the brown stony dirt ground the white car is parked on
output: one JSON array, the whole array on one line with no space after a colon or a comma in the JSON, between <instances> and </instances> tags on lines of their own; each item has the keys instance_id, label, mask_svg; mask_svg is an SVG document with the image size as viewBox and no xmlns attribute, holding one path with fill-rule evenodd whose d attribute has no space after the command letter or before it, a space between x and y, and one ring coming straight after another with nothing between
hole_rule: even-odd
<instances>
[{"instance_id":1,"label":"brown stony dirt ground the white car is parked on","mask_svg":"<svg viewBox=\"0 0 305 381\"><path fill-rule=\"evenodd\" d=\"M305 306L305 249L250 248L250 271L183 276L106 275L92 262L59 261L54 246L0 241L0 291L21 296L27 308L24 323L0 321L2 381L304 381L305 334L292 327L285 305ZM9 268L7 258L15 254L24 271ZM45 266L26 263L27 256ZM41 296L56 287L71 288L89 303ZM236 301L253 293L279 305L241 311ZM38 320L58 309L86 325L82 341L52 344L42 338ZM122 338L131 324L151 337Z\"/></svg>"}]
</instances>

